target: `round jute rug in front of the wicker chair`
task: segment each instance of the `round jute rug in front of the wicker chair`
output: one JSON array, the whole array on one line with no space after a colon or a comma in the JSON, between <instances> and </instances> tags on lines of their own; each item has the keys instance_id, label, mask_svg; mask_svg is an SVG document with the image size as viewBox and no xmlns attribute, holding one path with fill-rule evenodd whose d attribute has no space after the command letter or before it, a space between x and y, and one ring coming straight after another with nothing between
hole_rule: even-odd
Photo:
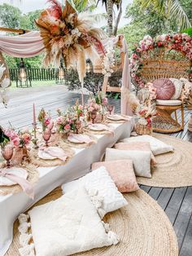
<instances>
[{"instance_id":1,"label":"round jute rug in front of the wicker chair","mask_svg":"<svg viewBox=\"0 0 192 256\"><path fill-rule=\"evenodd\" d=\"M192 186L192 143L168 135L153 136L172 145L174 152L155 156L152 178L137 177L137 183L163 188Z\"/></svg>"}]
</instances>

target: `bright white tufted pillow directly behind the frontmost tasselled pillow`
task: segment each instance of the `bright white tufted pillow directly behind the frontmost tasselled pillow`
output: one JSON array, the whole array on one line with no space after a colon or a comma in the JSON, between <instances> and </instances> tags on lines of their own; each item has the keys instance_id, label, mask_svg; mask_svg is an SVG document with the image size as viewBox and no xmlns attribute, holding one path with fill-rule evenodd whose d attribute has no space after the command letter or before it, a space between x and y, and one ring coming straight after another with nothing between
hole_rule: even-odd
<instances>
[{"instance_id":1,"label":"bright white tufted pillow directly behind the frontmost tasselled pillow","mask_svg":"<svg viewBox=\"0 0 192 256\"><path fill-rule=\"evenodd\" d=\"M63 193L71 192L80 187L85 187L88 192L98 191L98 196L103 197L103 205L98 208L98 214L103 218L105 214L120 209L127 205L124 196L118 191L114 181L104 166L89 172L80 179L63 184Z\"/></svg>"}]
</instances>

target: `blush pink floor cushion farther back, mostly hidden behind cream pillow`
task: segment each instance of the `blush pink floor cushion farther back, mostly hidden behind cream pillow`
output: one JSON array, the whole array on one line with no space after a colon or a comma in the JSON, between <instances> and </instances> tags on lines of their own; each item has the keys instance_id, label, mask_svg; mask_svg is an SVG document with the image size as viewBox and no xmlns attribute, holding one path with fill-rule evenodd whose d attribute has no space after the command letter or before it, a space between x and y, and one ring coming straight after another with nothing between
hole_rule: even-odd
<instances>
[{"instance_id":1,"label":"blush pink floor cushion farther back, mostly hidden behind cream pillow","mask_svg":"<svg viewBox=\"0 0 192 256\"><path fill-rule=\"evenodd\" d=\"M140 150L140 151L150 151L151 152L151 166L156 165L155 157L151 151L151 146L149 142L135 141L129 143L116 143L116 149L120 150Z\"/></svg>"}]
</instances>

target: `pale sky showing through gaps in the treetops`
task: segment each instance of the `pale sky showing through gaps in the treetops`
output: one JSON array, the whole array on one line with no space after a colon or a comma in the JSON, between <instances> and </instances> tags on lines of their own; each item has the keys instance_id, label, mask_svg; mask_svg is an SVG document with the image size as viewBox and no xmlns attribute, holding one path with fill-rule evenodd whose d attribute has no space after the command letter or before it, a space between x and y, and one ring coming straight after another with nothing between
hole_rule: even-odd
<instances>
[{"instance_id":1,"label":"pale sky showing through gaps in the treetops","mask_svg":"<svg viewBox=\"0 0 192 256\"><path fill-rule=\"evenodd\" d=\"M0 4L2 4L3 2L9 3L14 5L15 7L19 7L20 10L23 13L26 13L28 11L35 11L38 9L45 9L46 7L48 7L48 5L46 4L46 0L0 0ZM62 2L62 0L59 0L59 2ZM123 14L121 16L121 20L120 20L120 27L123 27L124 24L128 24L129 20L124 18L124 14L125 14L125 9L126 6L129 4L129 2L133 2L133 0L122 0L123 2L123 6L122 6L122 10L123 10ZM102 13L105 12L105 7L102 6L102 4L98 5L98 12ZM100 25L104 25L102 24L98 24L98 26Z\"/></svg>"}]
</instances>

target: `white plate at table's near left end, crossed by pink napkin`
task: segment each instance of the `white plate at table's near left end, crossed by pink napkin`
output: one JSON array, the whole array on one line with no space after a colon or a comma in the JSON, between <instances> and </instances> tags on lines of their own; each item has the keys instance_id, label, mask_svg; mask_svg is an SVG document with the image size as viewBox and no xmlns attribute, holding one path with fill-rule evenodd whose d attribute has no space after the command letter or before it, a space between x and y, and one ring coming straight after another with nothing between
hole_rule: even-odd
<instances>
[{"instance_id":1,"label":"white plate at table's near left end, crossed by pink napkin","mask_svg":"<svg viewBox=\"0 0 192 256\"><path fill-rule=\"evenodd\" d=\"M15 174L15 175L19 176L20 178L23 178L23 179L28 178L27 170L24 170L22 168L12 167L10 169L5 169L5 170L6 170L7 173L9 172L11 174ZM12 186L12 185L15 185L15 184L16 183L11 181L10 179L7 179L6 177L0 176L0 186Z\"/></svg>"}]
</instances>

